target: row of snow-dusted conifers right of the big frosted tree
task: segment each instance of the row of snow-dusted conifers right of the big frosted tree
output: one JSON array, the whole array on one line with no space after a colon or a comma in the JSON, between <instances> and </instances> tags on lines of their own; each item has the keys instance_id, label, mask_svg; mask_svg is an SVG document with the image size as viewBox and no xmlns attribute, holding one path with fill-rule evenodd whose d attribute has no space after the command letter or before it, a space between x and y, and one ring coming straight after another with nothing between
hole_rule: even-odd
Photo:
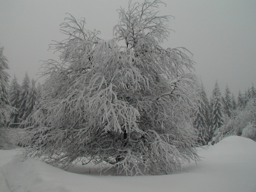
<instances>
[{"instance_id":1,"label":"row of snow-dusted conifers right of the big frosted tree","mask_svg":"<svg viewBox=\"0 0 256 192\"><path fill-rule=\"evenodd\" d=\"M212 138L221 132L225 136L227 131L223 131L223 127L236 118L239 113L246 111L248 104L252 105L252 100L256 99L256 90L252 84L244 94L239 90L237 98L234 93L230 92L228 84L225 88L223 96L221 95L218 82L214 84L210 102L205 92L204 86L198 90L201 103L195 113L194 126L198 129L198 143L206 145ZM252 118L254 121L254 119ZM251 121L252 121L251 120ZM248 122L247 122L248 123ZM222 127L222 129L220 129ZM246 126L244 126L246 127ZM241 130L244 128L241 127ZM241 135L242 132L237 132L236 135Z\"/></svg>"}]
</instances>

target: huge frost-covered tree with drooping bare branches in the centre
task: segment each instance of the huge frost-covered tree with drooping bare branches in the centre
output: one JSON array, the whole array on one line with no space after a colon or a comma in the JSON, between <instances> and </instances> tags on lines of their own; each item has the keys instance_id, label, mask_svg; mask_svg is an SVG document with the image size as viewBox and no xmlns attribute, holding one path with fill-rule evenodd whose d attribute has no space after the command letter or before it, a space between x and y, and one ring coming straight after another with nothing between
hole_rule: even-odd
<instances>
[{"instance_id":1,"label":"huge frost-covered tree with drooping bare branches in the centre","mask_svg":"<svg viewBox=\"0 0 256 192\"><path fill-rule=\"evenodd\" d=\"M112 164L127 175L170 173L196 160L191 116L200 104L193 61L181 49L164 49L168 16L161 1L129 1L120 8L114 38L84 29L70 15L67 39L52 45L60 62L45 61L40 109L23 141L26 154L70 166Z\"/></svg>"}]
</instances>

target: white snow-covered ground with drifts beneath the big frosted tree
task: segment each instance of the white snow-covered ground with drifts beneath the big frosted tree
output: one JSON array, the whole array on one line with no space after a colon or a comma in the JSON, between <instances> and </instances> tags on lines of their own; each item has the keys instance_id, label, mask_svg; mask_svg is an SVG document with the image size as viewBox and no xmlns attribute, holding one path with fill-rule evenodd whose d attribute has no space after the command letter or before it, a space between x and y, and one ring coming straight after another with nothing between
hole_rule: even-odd
<instances>
[{"instance_id":1,"label":"white snow-covered ground with drifts beneath the big frosted tree","mask_svg":"<svg viewBox=\"0 0 256 192\"><path fill-rule=\"evenodd\" d=\"M202 161L172 175L97 175L97 168L81 165L67 172L17 154L0 150L0 191L256 191L256 142L240 136L199 148Z\"/></svg>"}]
</instances>

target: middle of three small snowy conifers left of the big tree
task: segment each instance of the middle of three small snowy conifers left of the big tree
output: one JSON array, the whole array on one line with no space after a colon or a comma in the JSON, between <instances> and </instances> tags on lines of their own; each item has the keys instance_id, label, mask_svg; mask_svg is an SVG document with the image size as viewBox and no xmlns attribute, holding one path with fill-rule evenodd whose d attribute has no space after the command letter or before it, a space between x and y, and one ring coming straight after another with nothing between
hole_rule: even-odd
<instances>
[{"instance_id":1,"label":"middle of three small snowy conifers left of the big tree","mask_svg":"<svg viewBox=\"0 0 256 192\"><path fill-rule=\"evenodd\" d=\"M22 122L24 114L26 114L26 103L28 99L28 93L29 93L29 86L30 86L30 81L28 77L28 72L26 72L25 77L22 82L21 86L21 92L19 96L19 111L17 118L19 119L18 122Z\"/></svg>"}]
</instances>

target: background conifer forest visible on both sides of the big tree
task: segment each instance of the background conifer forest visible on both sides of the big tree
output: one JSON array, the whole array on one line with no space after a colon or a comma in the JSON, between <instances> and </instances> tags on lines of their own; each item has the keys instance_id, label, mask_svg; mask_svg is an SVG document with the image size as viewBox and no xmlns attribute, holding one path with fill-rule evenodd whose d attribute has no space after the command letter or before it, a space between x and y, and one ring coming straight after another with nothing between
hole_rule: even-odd
<instances>
[{"instance_id":1,"label":"background conifer forest visible on both sides of the big tree","mask_svg":"<svg viewBox=\"0 0 256 192\"><path fill-rule=\"evenodd\" d=\"M3 50L3 47L1 49ZM4 58L4 56L2 55L1 58ZM3 73L4 71L1 72ZM7 86L1 89L3 92L1 95L4 95L4 90L7 90L5 102L9 106L8 109L12 107L12 110L10 110L12 112L9 115L1 114L3 116L3 118L1 118L1 126L13 128L28 127L29 117L36 105L36 99L40 97L40 83L36 86L35 80L31 79L30 81L27 73L25 74L21 86L15 75L10 85L8 84L8 74L3 77L5 77L4 81ZM217 81L212 90L211 97L205 92L203 84L201 90L198 90L198 94L202 99L201 105L200 108L195 110L195 116L193 117L195 118L194 126L198 129L198 137L200 138L198 143L206 145L209 141L212 141L212 138L216 136L219 131L222 131L222 137L228 135L241 136L246 124L252 127L253 122L249 121L244 122L244 127L240 127L240 129L233 127L234 130L224 130L227 124L229 125L237 116L249 110L248 108L250 108L250 106L248 106L248 104L252 105L253 99L256 98L256 90L253 83L251 87L247 88L247 91L245 89L244 93L241 93L239 90L237 97L234 96L234 93L230 92L228 84L224 90L224 94L221 94ZM4 103L3 100L4 99L2 99L2 103ZM9 100L9 102L7 100ZM220 129L220 127L222 127L222 129ZM252 138L252 136L249 138Z\"/></svg>"}]
</instances>

